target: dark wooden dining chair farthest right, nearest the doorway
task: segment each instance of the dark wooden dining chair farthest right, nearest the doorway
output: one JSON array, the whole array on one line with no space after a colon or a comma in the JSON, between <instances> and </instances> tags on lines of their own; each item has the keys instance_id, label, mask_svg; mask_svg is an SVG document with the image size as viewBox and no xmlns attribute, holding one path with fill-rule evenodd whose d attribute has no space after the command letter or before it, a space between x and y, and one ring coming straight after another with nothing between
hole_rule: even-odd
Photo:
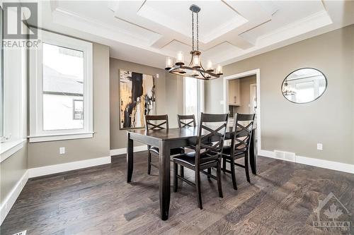
<instances>
[{"instance_id":1,"label":"dark wooden dining chair farthest right, nearest the doorway","mask_svg":"<svg viewBox=\"0 0 354 235\"><path fill-rule=\"evenodd\" d=\"M222 150L222 171L231 173L232 185L237 190L235 166L243 167L246 171L246 179L249 179L249 147L252 138L252 129L255 114L235 114L234 116L234 138L231 145L224 145ZM236 163L236 159L244 157L244 165ZM226 169L226 163L230 164L230 170Z\"/></svg>"}]
</instances>

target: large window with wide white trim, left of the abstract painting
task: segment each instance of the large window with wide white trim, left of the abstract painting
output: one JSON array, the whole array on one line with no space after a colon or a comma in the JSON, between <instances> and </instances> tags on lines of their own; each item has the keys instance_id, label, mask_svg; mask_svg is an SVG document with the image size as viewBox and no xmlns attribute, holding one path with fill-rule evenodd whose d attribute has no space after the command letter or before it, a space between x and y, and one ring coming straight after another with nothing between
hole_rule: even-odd
<instances>
[{"instance_id":1,"label":"large window with wide white trim, left of the abstract painting","mask_svg":"<svg viewBox=\"0 0 354 235\"><path fill-rule=\"evenodd\" d=\"M40 35L40 47L30 52L30 142L90 138L92 44Z\"/></svg>"}]
</instances>

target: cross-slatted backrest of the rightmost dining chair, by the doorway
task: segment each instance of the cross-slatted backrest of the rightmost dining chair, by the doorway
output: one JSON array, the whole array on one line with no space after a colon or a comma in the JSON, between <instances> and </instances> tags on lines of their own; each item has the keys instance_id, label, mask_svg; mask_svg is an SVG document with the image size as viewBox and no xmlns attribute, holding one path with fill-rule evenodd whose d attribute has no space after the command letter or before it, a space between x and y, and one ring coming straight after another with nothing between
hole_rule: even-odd
<instances>
[{"instance_id":1,"label":"cross-slatted backrest of the rightmost dining chair, by the doorway","mask_svg":"<svg viewBox=\"0 0 354 235\"><path fill-rule=\"evenodd\" d=\"M233 149L249 150L255 114L235 114Z\"/></svg>"}]
</instances>

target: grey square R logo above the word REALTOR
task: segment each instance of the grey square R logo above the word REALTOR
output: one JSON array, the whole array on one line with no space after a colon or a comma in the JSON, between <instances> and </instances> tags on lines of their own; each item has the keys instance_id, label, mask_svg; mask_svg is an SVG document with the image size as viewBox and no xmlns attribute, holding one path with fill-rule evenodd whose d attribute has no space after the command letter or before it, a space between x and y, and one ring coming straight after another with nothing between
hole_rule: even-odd
<instances>
[{"instance_id":1,"label":"grey square R logo above the word REALTOR","mask_svg":"<svg viewBox=\"0 0 354 235\"><path fill-rule=\"evenodd\" d=\"M35 2L6 2L4 8L4 40L37 39L37 29L23 32L27 23L37 25L38 4Z\"/></svg>"}]
</instances>

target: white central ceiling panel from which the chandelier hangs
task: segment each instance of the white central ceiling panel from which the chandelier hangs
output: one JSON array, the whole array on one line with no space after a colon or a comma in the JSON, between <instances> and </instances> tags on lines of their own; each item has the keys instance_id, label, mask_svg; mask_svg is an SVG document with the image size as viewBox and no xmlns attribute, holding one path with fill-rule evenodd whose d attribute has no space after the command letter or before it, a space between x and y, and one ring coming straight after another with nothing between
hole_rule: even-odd
<instances>
[{"instance_id":1,"label":"white central ceiling panel from which the chandelier hangs","mask_svg":"<svg viewBox=\"0 0 354 235\"><path fill-rule=\"evenodd\" d=\"M137 15L190 37L192 13L189 7L191 4L195 4L195 1L147 0L139 8ZM201 8L199 40L204 43L210 42L248 21L223 1L198 1L196 4Z\"/></svg>"}]
</instances>

